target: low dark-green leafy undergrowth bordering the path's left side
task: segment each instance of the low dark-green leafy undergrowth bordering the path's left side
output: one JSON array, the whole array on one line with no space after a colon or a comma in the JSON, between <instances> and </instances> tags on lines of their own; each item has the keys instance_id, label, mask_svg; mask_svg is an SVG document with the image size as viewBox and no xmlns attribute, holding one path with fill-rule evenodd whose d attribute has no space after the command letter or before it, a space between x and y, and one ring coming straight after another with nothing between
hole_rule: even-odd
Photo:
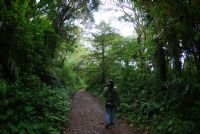
<instances>
[{"instance_id":1,"label":"low dark-green leafy undergrowth bordering the path's left side","mask_svg":"<svg viewBox=\"0 0 200 134\"><path fill-rule=\"evenodd\" d=\"M29 77L26 85L0 80L0 133L60 133L69 121L70 96L75 89Z\"/></svg>"}]
</instances>

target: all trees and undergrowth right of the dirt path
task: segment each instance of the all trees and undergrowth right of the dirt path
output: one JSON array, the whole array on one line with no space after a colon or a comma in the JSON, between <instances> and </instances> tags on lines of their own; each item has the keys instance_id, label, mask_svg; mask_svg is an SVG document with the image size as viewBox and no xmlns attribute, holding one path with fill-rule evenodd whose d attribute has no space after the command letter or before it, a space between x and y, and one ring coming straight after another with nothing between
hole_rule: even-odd
<instances>
[{"instance_id":1,"label":"all trees and undergrowth right of the dirt path","mask_svg":"<svg viewBox=\"0 0 200 134\"><path fill-rule=\"evenodd\" d=\"M134 25L122 37L109 24L97 25L86 81L96 95L113 79L120 116L150 134L200 132L200 1L115 2L120 19ZM114 7L113 7L114 8Z\"/></svg>"}]
</instances>

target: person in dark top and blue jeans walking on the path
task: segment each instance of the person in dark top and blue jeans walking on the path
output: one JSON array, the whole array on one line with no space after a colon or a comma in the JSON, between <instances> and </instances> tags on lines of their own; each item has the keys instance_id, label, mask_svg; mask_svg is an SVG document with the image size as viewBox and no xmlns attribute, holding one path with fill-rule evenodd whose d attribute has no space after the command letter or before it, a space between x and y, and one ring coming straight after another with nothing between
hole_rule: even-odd
<instances>
[{"instance_id":1,"label":"person in dark top and blue jeans walking on the path","mask_svg":"<svg viewBox=\"0 0 200 134\"><path fill-rule=\"evenodd\" d=\"M117 106L119 105L117 90L114 87L114 82L112 80L108 82L108 85L104 89L102 95L105 98L105 127L108 128L109 126L114 125L115 112L117 110Z\"/></svg>"}]
</instances>

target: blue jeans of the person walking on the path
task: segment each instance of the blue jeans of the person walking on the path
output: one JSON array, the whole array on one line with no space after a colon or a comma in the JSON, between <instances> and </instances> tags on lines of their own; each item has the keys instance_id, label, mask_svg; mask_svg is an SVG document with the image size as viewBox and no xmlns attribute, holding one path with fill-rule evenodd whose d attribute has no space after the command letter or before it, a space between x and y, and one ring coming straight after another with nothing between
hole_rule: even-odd
<instances>
[{"instance_id":1,"label":"blue jeans of the person walking on the path","mask_svg":"<svg viewBox=\"0 0 200 134\"><path fill-rule=\"evenodd\" d=\"M106 107L105 122L106 124L114 124L116 107Z\"/></svg>"}]
</instances>

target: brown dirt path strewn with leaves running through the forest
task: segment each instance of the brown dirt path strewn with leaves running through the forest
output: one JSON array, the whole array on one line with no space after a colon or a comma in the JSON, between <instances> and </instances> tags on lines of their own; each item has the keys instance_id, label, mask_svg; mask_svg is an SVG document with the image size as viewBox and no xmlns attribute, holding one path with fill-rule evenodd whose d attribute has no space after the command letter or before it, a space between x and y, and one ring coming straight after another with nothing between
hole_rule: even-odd
<instances>
[{"instance_id":1,"label":"brown dirt path strewn with leaves running through the forest","mask_svg":"<svg viewBox=\"0 0 200 134\"><path fill-rule=\"evenodd\" d=\"M97 98L87 91L78 91L71 104L70 124L64 134L138 134L126 123L117 119L116 126L106 129L104 110Z\"/></svg>"}]
</instances>

